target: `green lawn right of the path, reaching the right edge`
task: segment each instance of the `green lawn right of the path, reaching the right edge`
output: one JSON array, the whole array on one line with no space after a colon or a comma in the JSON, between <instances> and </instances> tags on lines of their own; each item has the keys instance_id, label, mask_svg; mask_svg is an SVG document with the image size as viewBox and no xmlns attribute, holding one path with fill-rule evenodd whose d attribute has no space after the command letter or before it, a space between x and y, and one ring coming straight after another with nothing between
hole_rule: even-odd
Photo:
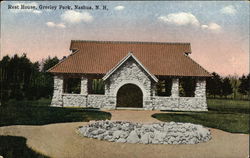
<instances>
[{"instance_id":1,"label":"green lawn right of the path, reaching the right edge","mask_svg":"<svg viewBox=\"0 0 250 158\"><path fill-rule=\"evenodd\" d=\"M157 113L161 121L190 122L231 133L249 133L249 101L209 99L208 112Z\"/></svg>"}]
</instances>

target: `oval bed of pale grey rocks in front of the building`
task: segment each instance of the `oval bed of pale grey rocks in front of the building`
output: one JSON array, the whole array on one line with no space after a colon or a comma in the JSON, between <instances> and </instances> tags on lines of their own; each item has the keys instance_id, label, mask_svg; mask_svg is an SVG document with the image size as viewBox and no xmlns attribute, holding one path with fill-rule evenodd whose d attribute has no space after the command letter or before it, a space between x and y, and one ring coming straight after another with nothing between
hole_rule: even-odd
<instances>
[{"instance_id":1,"label":"oval bed of pale grey rocks in front of the building","mask_svg":"<svg viewBox=\"0 0 250 158\"><path fill-rule=\"evenodd\" d=\"M77 133L99 140L142 144L197 144L212 138L210 130L201 125L175 122L96 121L79 127Z\"/></svg>"}]
</instances>

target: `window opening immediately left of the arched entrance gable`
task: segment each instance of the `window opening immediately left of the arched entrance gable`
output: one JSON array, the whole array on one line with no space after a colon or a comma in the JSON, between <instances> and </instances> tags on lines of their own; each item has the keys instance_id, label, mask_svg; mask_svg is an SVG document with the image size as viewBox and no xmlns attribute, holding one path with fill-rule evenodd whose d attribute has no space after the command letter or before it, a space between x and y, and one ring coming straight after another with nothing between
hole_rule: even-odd
<instances>
[{"instance_id":1,"label":"window opening immediately left of the arched entrance gable","mask_svg":"<svg viewBox=\"0 0 250 158\"><path fill-rule=\"evenodd\" d=\"M104 81L102 79L91 79L88 81L89 94L104 94Z\"/></svg>"}]
</instances>

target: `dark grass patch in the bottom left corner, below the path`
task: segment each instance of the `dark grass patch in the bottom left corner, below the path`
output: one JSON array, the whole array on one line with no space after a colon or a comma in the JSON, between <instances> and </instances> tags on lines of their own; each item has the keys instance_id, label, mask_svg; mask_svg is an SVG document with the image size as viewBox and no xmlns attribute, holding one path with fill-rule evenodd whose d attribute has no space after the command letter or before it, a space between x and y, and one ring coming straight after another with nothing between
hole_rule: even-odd
<instances>
[{"instance_id":1,"label":"dark grass patch in the bottom left corner, below the path","mask_svg":"<svg viewBox=\"0 0 250 158\"><path fill-rule=\"evenodd\" d=\"M0 155L4 158L48 158L26 145L26 138L0 136Z\"/></svg>"}]
</instances>

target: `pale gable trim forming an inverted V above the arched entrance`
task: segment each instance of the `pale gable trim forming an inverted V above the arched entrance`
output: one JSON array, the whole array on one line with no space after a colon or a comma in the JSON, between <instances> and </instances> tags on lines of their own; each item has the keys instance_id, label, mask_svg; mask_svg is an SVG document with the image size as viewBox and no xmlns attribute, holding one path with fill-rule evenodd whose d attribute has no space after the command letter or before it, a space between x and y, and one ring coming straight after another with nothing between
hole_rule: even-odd
<instances>
[{"instance_id":1,"label":"pale gable trim forming an inverted V above the arched entrance","mask_svg":"<svg viewBox=\"0 0 250 158\"><path fill-rule=\"evenodd\" d=\"M145 66L142 65L142 63L131 53L129 52L127 56L125 56L115 67L113 67L106 75L102 78L104 81L107 80L120 66L123 65L129 58L133 58L141 67L142 69L154 80L155 82L158 82L158 79L148 71Z\"/></svg>"}]
</instances>

